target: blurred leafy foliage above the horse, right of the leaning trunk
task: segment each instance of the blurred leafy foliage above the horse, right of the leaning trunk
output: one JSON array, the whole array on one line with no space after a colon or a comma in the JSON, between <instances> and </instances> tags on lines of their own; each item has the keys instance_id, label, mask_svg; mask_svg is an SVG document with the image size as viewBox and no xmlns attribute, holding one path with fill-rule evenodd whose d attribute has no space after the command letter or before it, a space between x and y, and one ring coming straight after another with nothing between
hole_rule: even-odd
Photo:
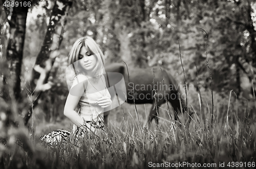
<instances>
[{"instance_id":1,"label":"blurred leafy foliage above the horse, right of the leaning trunk","mask_svg":"<svg viewBox=\"0 0 256 169\"><path fill-rule=\"evenodd\" d=\"M225 94L234 90L240 96L240 77L253 75L254 6L253 2L221 0L77 0L68 17L61 57L67 57L77 38L92 36L107 63L123 60L131 67L161 65L182 79L180 42L187 83L197 83L196 64L200 87L209 87L207 52L214 90Z\"/></svg>"}]
</instances>

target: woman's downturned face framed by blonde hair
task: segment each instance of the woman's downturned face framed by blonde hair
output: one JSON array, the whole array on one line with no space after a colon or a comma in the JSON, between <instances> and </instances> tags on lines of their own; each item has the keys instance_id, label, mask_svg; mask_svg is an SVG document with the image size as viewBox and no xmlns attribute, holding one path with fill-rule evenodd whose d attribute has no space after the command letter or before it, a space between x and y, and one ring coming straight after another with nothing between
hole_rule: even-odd
<instances>
[{"instance_id":1,"label":"woman's downturned face framed by blonde hair","mask_svg":"<svg viewBox=\"0 0 256 169\"><path fill-rule=\"evenodd\" d=\"M95 54L89 53L86 47L82 46L78 54L78 62L84 70L90 73L97 63L97 58Z\"/></svg>"}]
</instances>

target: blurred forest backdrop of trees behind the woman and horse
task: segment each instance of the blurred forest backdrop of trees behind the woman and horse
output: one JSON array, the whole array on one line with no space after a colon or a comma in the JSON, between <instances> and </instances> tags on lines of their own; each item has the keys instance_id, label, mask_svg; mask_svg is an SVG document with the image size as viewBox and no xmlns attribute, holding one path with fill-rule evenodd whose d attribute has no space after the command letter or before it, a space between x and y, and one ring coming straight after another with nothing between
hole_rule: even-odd
<instances>
[{"instance_id":1,"label":"blurred forest backdrop of trees behind the woman and horse","mask_svg":"<svg viewBox=\"0 0 256 169\"><path fill-rule=\"evenodd\" d=\"M184 83L185 78L188 86L194 86L187 92L188 105L192 105L195 110L200 109L200 88L203 102L209 107L212 107L211 91L214 93L216 115L228 109L231 99L230 104L238 107L240 118L243 118L244 111L248 112L247 118L255 118L254 1L30 2L29 8L14 7L12 10L4 8L4 1L1 4L1 106L6 109L6 113L2 112L3 117L15 119L8 114L15 104L18 114L25 119L27 126L35 129L37 136L55 129L71 128L72 124L63 116L68 95L65 70L73 43L83 36L95 39L105 55L107 65L124 61L129 69L161 66L171 72L180 84ZM65 9L68 14L63 15L63 18L61 16L65 20L60 24L62 27L51 24L56 15L56 6ZM15 13L23 14L23 18L27 15L18 22L18 19L13 20ZM21 30L20 25L23 25ZM58 36L47 32L49 28L59 33ZM51 37L49 43L52 46L55 44L55 47L49 47L50 52L44 48L48 35ZM42 54L44 52L45 55ZM38 73L42 70L36 65L46 73L42 81L41 73ZM36 86L41 88L34 90ZM7 88L12 88L13 93L8 93ZM231 97L230 91L234 92ZM24 107L32 107L32 118L28 118L27 114L30 108ZM151 106L138 107L139 118L136 118L133 105L124 104L114 109L110 116L111 123L118 126L123 119L129 118L136 119L136 123L145 123ZM168 118L166 107L163 105L160 117ZM6 124L15 121L13 119Z\"/></svg>"}]
</instances>

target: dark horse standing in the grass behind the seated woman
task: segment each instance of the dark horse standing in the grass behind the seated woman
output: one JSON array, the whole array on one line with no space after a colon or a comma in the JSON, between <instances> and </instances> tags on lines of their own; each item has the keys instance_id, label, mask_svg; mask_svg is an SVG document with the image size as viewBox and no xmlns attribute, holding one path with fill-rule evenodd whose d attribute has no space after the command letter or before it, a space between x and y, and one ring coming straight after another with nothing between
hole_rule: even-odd
<instances>
[{"instance_id":1,"label":"dark horse standing in the grass behind the seated woman","mask_svg":"<svg viewBox=\"0 0 256 169\"><path fill-rule=\"evenodd\" d=\"M183 110L186 110L186 99L181 91L180 85L163 68L128 68L128 74L125 64L113 63L105 66L105 71L107 73L118 72L123 75L127 92L127 103L134 103L135 101L136 104L153 104L148 122L151 122L153 119L158 122L158 107L165 102L165 97L172 104L176 112L181 112L181 107ZM107 79L106 76L105 79ZM119 80L110 80L110 86L115 85ZM155 105L156 108L154 108ZM176 113L175 120L177 120Z\"/></svg>"}]
</instances>

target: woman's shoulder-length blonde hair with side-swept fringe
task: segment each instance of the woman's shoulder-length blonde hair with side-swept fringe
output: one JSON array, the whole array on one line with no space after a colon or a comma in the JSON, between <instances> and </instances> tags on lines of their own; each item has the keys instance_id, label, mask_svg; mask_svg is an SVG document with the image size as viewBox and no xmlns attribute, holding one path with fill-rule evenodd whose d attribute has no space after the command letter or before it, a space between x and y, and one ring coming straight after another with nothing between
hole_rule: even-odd
<instances>
[{"instance_id":1,"label":"woman's shoulder-length blonde hair with side-swept fringe","mask_svg":"<svg viewBox=\"0 0 256 169\"><path fill-rule=\"evenodd\" d=\"M99 46L91 37L83 37L75 41L69 53L69 60L68 60L69 65L72 65L79 60L78 55L82 46L86 47L86 50L90 52L90 54L94 54L96 56L97 63L93 68L92 72L94 73L93 76L99 77L99 75L103 73L102 69L105 64L105 58ZM78 64L78 62L76 64ZM80 70L77 68L78 67L76 65L75 71L79 73Z\"/></svg>"}]
</instances>

